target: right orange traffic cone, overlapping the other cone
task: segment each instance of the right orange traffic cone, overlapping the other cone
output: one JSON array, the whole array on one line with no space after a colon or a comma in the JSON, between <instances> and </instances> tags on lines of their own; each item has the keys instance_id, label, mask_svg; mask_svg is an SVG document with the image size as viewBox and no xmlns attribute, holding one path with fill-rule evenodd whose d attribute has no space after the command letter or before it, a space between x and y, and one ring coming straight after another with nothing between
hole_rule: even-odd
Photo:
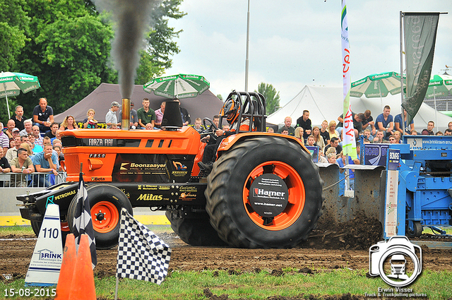
<instances>
[{"instance_id":1,"label":"right orange traffic cone, overlapping the other cone","mask_svg":"<svg viewBox=\"0 0 452 300\"><path fill-rule=\"evenodd\" d=\"M96 300L94 286L93 264L91 263L91 252L88 243L88 235L80 236L78 245L76 268L73 271L71 292L69 300Z\"/></svg>"}]
</instances>

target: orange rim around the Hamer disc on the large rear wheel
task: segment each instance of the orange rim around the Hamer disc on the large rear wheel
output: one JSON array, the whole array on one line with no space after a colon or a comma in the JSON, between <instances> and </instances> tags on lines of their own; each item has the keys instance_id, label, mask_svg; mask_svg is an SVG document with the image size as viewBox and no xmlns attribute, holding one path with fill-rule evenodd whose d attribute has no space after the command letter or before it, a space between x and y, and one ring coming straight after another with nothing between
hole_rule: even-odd
<instances>
[{"instance_id":1,"label":"orange rim around the Hamer disc on the large rear wheel","mask_svg":"<svg viewBox=\"0 0 452 300\"><path fill-rule=\"evenodd\" d=\"M279 215L273 217L272 222L265 225L263 217L258 215L258 213L251 208L251 203L249 201L251 184L254 179L263 174L275 174L279 176L283 179L289 190L289 199L285 210L283 210L283 212ZM306 193L302 179L300 178L298 172L285 162L263 162L255 167L246 177L243 188L244 208L249 218L263 229L277 231L290 227L290 225L297 221L299 216L302 214L305 200Z\"/></svg>"}]
</instances>

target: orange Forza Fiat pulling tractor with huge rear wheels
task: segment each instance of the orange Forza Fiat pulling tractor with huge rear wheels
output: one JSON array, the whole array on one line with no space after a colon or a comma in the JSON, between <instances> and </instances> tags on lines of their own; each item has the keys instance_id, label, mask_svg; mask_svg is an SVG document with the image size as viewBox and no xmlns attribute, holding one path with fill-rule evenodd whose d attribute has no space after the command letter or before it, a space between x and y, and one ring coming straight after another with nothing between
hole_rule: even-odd
<instances>
[{"instance_id":1,"label":"orange Forza Fiat pulling tractor with huge rear wheels","mask_svg":"<svg viewBox=\"0 0 452 300\"><path fill-rule=\"evenodd\" d=\"M248 120L249 128L232 124L234 134L218 142L210 174L198 162L201 138L215 138L214 122L204 119L201 133L182 127L179 105L168 101L163 130L63 131L68 182L17 196L22 217L38 234L47 204L55 203L63 234L71 232L83 163L97 248L117 245L121 208L133 214L135 207L165 211L174 232L191 245L297 246L321 215L319 171L296 138L265 132L263 95L234 91L228 99L239 103L237 120Z\"/></svg>"}]
</instances>

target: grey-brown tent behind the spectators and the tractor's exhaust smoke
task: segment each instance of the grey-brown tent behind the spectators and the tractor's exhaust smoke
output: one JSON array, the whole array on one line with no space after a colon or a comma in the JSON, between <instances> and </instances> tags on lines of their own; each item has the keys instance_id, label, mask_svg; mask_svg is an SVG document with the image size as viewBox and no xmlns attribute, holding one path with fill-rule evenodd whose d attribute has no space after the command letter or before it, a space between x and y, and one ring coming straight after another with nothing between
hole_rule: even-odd
<instances>
[{"instance_id":1,"label":"grey-brown tent behind the spectators and the tractor's exhaust smoke","mask_svg":"<svg viewBox=\"0 0 452 300\"><path fill-rule=\"evenodd\" d=\"M160 108L162 101L169 99L165 97L156 96L153 93L150 94L143 90L143 85L135 85L133 88L133 94L131 101L135 106L133 109L139 109L143 107L143 98L148 98L150 102L150 108L156 110ZM88 109L94 109L95 119L100 123L105 123L105 114L110 109L110 104L113 101L121 104L121 92L119 92L119 85L111 83L101 83L90 95L86 96L75 104L73 107L67 109L61 114L54 116L56 122L61 123L68 115L73 116L77 122L83 121L86 118L86 112ZM191 123L194 124L196 118L203 119L208 117L213 118L215 114L220 112L223 102L215 97L210 90L206 90L198 97L182 99L181 107L184 107L191 116ZM117 113L117 116L119 114Z\"/></svg>"}]
</instances>

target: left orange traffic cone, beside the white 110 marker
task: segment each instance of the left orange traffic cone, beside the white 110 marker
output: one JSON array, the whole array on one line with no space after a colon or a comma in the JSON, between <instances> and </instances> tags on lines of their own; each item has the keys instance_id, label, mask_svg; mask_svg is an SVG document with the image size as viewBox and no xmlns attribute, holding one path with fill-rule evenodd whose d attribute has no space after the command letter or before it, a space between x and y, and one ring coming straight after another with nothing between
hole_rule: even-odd
<instances>
[{"instance_id":1,"label":"left orange traffic cone, beside the white 110 marker","mask_svg":"<svg viewBox=\"0 0 452 300\"><path fill-rule=\"evenodd\" d=\"M63 260L61 261L55 300L69 299L76 258L76 241L73 234L68 234L66 236L66 244L64 245Z\"/></svg>"}]
</instances>

